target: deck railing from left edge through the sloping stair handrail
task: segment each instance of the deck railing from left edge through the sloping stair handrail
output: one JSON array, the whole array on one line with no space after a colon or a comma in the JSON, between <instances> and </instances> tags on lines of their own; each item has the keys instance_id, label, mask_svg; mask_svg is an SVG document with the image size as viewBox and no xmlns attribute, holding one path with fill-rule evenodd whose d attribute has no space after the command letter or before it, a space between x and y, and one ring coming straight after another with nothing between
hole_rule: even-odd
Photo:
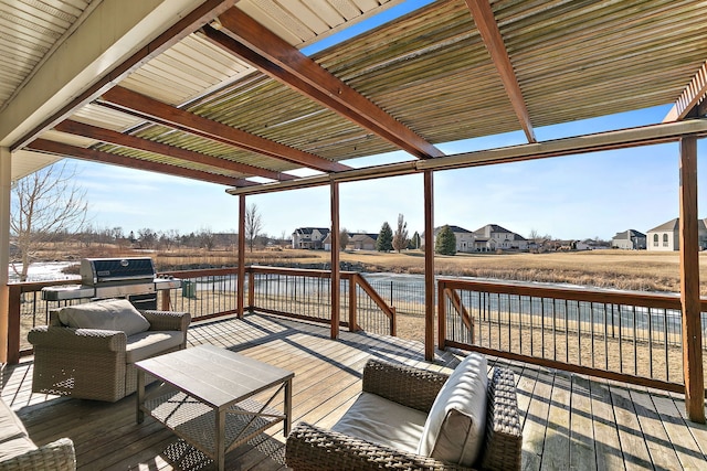
<instances>
[{"instance_id":1,"label":"deck railing from left edge through the sloping stair handrail","mask_svg":"<svg viewBox=\"0 0 707 471\"><path fill-rule=\"evenodd\" d=\"M168 271L182 280L179 289L157 292L157 307L186 311L193 320L238 313L238 268ZM331 321L330 271L274 267L247 267L244 292L246 309L329 323ZM340 324L351 330L395 335L395 309L389 306L358 272L341 272ZM9 285L8 357L14 363L32 353L28 332L49 321L49 311L88 299L45 301L49 286L75 285L80 280L20 282Z\"/></svg>"}]
</instances>

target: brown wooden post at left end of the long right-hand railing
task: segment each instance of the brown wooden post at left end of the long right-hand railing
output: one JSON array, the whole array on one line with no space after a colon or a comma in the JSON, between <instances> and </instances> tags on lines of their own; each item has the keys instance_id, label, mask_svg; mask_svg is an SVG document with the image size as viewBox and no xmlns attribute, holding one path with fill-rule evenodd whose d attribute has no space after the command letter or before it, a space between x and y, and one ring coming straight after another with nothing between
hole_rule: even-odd
<instances>
[{"instance_id":1,"label":"brown wooden post at left end of the long right-hand railing","mask_svg":"<svg viewBox=\"0 0 707 471\"><path fill-rule=\"evenodd\" d=\"M424 358L434 360L434 185L424 171Z\"/></svg>"}]
</instances>

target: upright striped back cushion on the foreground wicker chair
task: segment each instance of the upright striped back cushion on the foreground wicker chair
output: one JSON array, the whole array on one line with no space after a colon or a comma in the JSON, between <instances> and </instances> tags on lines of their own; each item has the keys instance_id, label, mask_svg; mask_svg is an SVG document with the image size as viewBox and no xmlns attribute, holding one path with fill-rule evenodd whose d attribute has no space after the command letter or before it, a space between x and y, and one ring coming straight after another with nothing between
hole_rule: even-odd
<instances>
[{"instance_id":1,"label":"upright striped back cushion on the foreground wicker chair","mask_svg":"<svg viewBox=\"0 0 707 471\"><path fill-rule=\"evenodd\" d=\"M469 354L434 399L418 454L474 465L484 442L487 386L486 357Z\"/></svg>"}]
</instances>

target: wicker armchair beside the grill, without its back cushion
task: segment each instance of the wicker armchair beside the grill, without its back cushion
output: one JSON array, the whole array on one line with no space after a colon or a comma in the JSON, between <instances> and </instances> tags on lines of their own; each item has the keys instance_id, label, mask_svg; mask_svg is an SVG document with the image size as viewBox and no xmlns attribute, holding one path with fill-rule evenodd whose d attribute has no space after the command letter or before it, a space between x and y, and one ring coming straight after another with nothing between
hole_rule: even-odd
<instances>
[{"instance_id":1,"label":"wicker armchair beside the grill, without its back cushion","mask_svg":"<svg viewBox=\"0 0 707 471\"><path fill-rule=\"evenodd\" d=\"M34 345L32 392L106 402L135 393L135 362L184 349L191 322L186 312L140 311L149 322L146 340L145 334L65 327L57 311L50 312L50 325L34 328L28 335ZM167 338L166 346L159 345L160 336ZM145 347L148 342L152 344Z\"/></svg>"}]
</instances>

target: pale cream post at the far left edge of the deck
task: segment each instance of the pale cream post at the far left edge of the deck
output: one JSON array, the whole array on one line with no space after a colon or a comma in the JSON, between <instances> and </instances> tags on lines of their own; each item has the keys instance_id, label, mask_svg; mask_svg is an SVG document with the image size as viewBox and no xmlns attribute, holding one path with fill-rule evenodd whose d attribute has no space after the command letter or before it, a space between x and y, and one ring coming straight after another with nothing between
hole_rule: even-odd
<instances>
[{"instance_id":1,"label":"pale cream post at the far left edge of the deck","mask_svg":"<svg viewBox=\"0 0 707 471\"><path fill-rule=\"evenodd\" d=\"M0 147L0 363L8 363L10 323L10 292L8 266L10 265L10 175L12 156L10 149ZM19 317L18 317L19 321Z\"/></svg>"}]
</instances>

